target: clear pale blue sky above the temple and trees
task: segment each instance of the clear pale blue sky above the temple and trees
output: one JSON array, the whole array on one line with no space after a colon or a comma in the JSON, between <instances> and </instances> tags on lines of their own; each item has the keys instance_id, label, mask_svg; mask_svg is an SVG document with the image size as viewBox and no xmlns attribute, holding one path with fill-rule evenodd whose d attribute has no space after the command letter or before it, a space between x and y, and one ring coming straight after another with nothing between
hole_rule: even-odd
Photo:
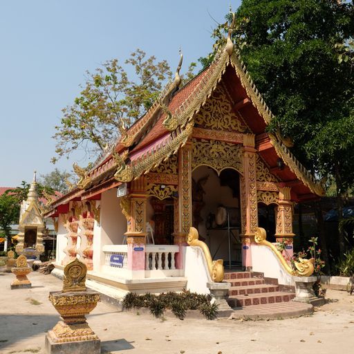
<instances>
[{"instance_id":1,"label":"clear pale blue sky above the temple and trees","mask_svg":"<svg viewBox=\"0 0 354 354\"><path fill-rule=\"evenodd\" d=\"M221 22L240 0L0 0L0 186L31 180L32 171L85 165L82 152L54 166L55 125L73 102L84 72L136 48L167 59L172 70L212 48ZM209 15L210 14L210 15ZM212 17L211 17L212 16Z\"/></svg>"}]
</instances>

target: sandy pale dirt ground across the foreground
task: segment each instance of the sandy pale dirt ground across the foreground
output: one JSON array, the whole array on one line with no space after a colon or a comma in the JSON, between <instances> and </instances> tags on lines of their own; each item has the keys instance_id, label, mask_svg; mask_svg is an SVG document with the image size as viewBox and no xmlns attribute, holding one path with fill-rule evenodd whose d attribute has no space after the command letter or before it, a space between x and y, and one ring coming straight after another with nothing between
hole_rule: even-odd
<instances>
[{"instance_id":1,"label":"sandy pale dirt ground across the foreground","mask_svg":"<svg viewBox=\"0 0 354 354\"><path fill-rule=\"evenodd\" d=\"M48 292L62 282L32 272L31 289L10 290L13 274L0 270L0 353L45 353L46 331L59 316ZM88 324L102 341L102 353L353 353L354 295L328 290L328 304L313 315L272 321L155 319L121 312L100 302Z\"/></svg>"}]
</instances>

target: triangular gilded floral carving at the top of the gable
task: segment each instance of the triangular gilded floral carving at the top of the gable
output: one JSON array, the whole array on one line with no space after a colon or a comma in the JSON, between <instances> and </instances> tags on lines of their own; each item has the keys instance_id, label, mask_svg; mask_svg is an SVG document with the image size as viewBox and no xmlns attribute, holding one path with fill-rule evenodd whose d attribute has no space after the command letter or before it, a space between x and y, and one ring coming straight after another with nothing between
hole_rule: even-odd
<instances>
[{"instance_id":1,"label":"triangular gilded floral carving at the top of the gable","mask_svg":"<svg viewBox=\"0 0 354 354\"><path fill-rule=\"evenodd\" d=\"M214 130L233 130L243 133L247 128L233 111L230 100L227 99L225 88L218 84L212 97L204 104L203 109L196 114L194 122L205 128Z\"/></svg>"}]
</instances>

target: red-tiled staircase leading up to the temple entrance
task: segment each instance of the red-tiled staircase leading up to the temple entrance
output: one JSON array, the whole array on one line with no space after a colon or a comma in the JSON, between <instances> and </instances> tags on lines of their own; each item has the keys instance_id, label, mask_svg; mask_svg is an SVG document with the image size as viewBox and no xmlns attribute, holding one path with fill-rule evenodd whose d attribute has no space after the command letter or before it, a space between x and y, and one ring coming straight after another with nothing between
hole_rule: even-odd
<instances>
[{"instance_id":1,"label":"red-tiled staircase leading up to the temple entrance","mask_svg":"<svg viewBox=\"0 0 354 354\"><path fill-rule=\"evenodd\" d=\"M232 308L279 304L295 297L295 293L281 292L279 286L266 284L252 272L227 272L224 279L231 283L227 303Z\"/></svg>"}]
</instances>

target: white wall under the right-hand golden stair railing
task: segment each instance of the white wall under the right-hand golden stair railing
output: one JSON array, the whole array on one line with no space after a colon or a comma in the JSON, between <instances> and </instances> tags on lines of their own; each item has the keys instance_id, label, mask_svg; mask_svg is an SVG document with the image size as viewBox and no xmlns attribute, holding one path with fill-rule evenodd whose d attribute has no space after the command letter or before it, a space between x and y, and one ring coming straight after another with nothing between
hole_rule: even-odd
<instances>
[{"instance_id":1,"label":"white wall under the right-hand golden stair railing","mask_svg":"<svg viewBox=\"0 0 354 354\"><path fill-rule=\"evenodd\" d=\"M295 286L292 276L286 272L278 257L267 246L251 245L252 270L262 272L264 277L278 279L281 285Z\"/></svg>"}]
</instances>

